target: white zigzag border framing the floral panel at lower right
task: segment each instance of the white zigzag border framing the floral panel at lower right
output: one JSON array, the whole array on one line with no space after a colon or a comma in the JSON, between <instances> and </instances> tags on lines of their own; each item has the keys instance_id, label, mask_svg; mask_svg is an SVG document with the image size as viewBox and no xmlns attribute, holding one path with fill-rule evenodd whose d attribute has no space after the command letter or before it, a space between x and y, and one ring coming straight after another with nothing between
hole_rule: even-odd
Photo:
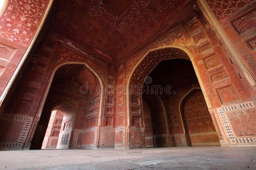
<instances>
[{"instance_id":1,"label":"white zigzag border framing the floral panel at lower right","mask_svg":"<svg viewBox=\"0 0 256 170\"><path fill-rule=\"evenodd\" d=\"M217 109L231 144L256 144L256 138L236 138L229 124L228 117L226 115L226 112L229 111L243 110L248 108L256 107L255 104L252 101L250 101L246 103L234 104L231 106L221 107Z\"/></svg>"}]
</instances>

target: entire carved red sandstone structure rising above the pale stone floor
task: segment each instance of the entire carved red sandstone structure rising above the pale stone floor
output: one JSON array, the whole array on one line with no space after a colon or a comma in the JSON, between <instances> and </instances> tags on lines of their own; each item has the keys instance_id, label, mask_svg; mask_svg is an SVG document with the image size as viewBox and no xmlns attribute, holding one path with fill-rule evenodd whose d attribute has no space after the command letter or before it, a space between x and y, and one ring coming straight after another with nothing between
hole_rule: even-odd
<instances>
[{"instance_id":1,"label":"entire carved red sandstone structure rising above the pale stone floor","mask_svg":"<svg viewBox=\"0 0 256 170\"><path fill-rule=\"evenodd\" d=\"M255 79L256 1L206 2ZM256 144L256 87L200 5L55 2L18 70L48 3L8 0L0 17L0 94L20 72L0 150Z\"/></svg>"}]
</instances>

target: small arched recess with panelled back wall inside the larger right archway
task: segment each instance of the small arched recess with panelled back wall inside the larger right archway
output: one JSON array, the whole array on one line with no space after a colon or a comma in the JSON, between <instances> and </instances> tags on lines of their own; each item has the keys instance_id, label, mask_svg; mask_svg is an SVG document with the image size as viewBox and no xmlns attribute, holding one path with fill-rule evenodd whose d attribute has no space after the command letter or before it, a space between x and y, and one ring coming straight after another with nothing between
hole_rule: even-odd
<instances>
[{"instance_id":1,"label":"small arched recess with panelled back wall inside the larger right archway","mask_svg":"<svg viewBox=\"0 0 256 170\"><path fill-rule=\"evenodd\" d=\"M188 146L220 145L201 89L192 89L185 95L180 114Z\"/></svg>"}]
</instances>

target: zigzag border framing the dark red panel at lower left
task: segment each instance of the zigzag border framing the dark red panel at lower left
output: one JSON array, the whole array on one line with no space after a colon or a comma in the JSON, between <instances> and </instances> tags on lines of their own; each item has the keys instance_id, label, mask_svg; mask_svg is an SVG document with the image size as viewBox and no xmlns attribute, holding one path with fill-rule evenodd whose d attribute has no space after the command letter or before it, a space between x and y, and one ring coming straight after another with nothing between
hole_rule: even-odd
<instances>
[{"instance_id":1,"label":"zigzag border framing the dark red panel at lower left","mask_svg":"<svg viewBox=\"0 0 256 170\"><path fill-rule=\"evenodd\" d=\"M23 126L23 129L20 133L18 142L10 142L10 143L0 143L0 148L7 148L7 147L12 147L12 148L21 148L24 140L26 138L27 132L29 130L29 127L32 123L33 117L24 117L20 115L11 115L11 114L2 114L0 119L8 119L8 120L18 120L18 121L24 121L25 125Z\"/></svg>"}]
</instances>

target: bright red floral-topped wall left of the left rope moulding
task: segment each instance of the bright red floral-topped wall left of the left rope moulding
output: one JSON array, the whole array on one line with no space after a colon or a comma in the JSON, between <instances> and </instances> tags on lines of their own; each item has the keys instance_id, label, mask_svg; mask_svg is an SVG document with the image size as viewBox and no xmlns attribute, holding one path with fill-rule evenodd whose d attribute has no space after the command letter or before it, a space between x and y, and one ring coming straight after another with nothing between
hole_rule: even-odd
<instances>
[{"instance_id":1,"label":"bright red floral-topped wall left of the left rope moulding","mask_svg":"<svg viewBox=\"0 0 256 170\"><path fill-rule=\"evenodd\" d=\"M49 0L9 0L0 17L0 94L10 80L44 16Z\"/></svg>"}]
</instances>

